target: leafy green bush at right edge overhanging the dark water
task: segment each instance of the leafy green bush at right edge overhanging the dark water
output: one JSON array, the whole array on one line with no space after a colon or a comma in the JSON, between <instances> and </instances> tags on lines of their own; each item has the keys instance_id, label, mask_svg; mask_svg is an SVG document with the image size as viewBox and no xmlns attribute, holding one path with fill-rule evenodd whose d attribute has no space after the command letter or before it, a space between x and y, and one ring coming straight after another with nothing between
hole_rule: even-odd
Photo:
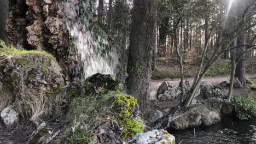
<instances>
[{"instance_id":1,"label":"leafy green bush at right edge overhanging the dark water","mask_svg":"<svg viewBox=\"0 0 256 144\"><path fill-rule=\"evenodd\" d=\"M256 117L256 101L252 99L252 95L248 94L245 97L233 97L232 105L235 107L237 117L241 120Z\"/></svg>"}]
</instances>

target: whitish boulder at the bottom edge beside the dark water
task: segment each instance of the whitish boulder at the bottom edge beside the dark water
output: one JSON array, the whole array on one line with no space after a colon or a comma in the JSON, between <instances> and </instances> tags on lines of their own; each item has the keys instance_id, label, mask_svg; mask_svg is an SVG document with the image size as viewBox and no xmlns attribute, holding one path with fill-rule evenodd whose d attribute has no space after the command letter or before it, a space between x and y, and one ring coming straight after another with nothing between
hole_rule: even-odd
<instances>
[{"instance_id":1,"label":"whitish boulder at the bottom edge beside the dark water","mask_svg":"<svg viewBox=\"0 0 256 144\"><path fill-rule=\"evenodd\" d=\"M147 133L136 134L128 144L173 144L175 137L163 129L148 131Z\"/></svg>"}]
</instances>

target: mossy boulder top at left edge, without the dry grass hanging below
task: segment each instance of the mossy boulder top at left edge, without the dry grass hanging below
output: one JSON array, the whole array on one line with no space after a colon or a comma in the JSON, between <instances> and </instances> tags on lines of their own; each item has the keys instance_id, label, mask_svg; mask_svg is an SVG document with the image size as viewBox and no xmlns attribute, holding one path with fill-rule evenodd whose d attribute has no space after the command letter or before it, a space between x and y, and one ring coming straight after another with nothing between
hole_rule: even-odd
<instances>
[{"instance_id":1,"label":"mossy boulder top at left edge, without the dry grass hanging below","mask_svg":"<svg viewBox=\"0 0 256 144\"><path fill-rule=\"evenodd\" d=\"M61 68L49 53L15 49L3 41L0 41L0 78L16 93L24 88L46 92L64 84Z\"/></svg>"}]
</instances>

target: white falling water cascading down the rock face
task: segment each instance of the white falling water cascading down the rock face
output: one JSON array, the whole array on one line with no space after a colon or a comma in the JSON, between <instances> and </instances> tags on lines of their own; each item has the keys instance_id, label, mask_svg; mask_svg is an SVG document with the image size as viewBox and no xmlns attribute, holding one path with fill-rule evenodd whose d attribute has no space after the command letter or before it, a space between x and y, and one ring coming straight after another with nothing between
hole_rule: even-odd
<instances>
[{"instance_id":1,"label":"white falling water cascading down the rock face","mask_svg":"<svg viewBox=\"0 0 256 144\"><path fill-rule=\"evenodd\" d=\"M89 0L83 1L83 4L89 5ZM88 20L86 22L79 16L78 1L62 1L59 3L59 9L66 15L63 18L65 29L74 40L78 61L84 69L84 78L96 73L115 77L117 52L114 49L106 51L109 46L107 38L89 30Z\"/></svg>"}]
</instances>

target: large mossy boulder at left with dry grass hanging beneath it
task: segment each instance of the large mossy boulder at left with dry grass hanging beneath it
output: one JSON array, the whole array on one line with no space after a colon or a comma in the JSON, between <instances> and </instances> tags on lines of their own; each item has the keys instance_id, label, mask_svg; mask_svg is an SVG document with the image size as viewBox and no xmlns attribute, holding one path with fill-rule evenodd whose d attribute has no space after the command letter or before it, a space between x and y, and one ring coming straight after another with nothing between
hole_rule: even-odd
<instances>
[{"instance_id":1,"label":"large mossy boulder at left with dry grass hanging beneath it","mask_svg":"<svg viewBox=\"0 0 256 144\"><path fill-rule=\"evenodd\" d=\"M47 93L64 82L61 68L49 53L19 50L0 41L0 83L11 97L0 94L0 109L11 104L26 120L37 121L56 105Z\"/></svg>"}]
</instances>

